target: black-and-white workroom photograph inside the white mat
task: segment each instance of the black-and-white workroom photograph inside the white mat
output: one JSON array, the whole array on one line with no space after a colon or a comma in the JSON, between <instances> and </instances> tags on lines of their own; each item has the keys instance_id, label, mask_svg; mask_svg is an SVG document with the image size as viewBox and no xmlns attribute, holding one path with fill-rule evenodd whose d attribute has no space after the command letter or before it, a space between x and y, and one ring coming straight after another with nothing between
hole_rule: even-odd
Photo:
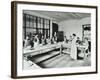
<instances>
[{"instance_id":1,"label":"black-and-white workroom photograph inside the white mat","mask_svg":"<svg viewBox=\"0 0 100 80\"><path fill-rule=\"evenodd\" d=\"M91 14L23 10L23 69L91 66Z\"/></svg>"}]
</instances>

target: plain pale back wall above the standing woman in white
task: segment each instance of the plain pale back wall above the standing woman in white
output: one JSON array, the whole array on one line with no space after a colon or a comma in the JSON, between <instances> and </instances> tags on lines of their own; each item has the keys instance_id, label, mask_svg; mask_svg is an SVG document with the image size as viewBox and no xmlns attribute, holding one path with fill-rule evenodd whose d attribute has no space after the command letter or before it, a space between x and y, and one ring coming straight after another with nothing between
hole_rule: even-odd
<instances>
[{"instance_id":1,"label":"plain pale back wall above the standing woman in white","mask_svg":"<svg viewBox=\"0 0 100 80\"><path fill-rule=\"evenodd\" d=\"M70 35L75 33L78 37L82 39L82 25L90 24L90 17L83 19L74 19L74 20L66 20L61 21L59 23L59 30L64 31L64 34L69 38Z\"/></svg>"}]
</instances>

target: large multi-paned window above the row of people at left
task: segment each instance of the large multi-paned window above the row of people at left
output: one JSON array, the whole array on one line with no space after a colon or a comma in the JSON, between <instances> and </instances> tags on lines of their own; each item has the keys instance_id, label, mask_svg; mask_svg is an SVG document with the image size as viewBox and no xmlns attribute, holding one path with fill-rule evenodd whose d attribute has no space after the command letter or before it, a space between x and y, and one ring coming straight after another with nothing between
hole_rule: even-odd
<instances>
[{"instance_id":1,"label":"large multi-paned window above the row of people at left","mask_svg":"<svg viewBox=\"0 0 100 80\"><path fill-rule=\"evenodd\" d=\"M50 20L24 13L23 34L24 38L36 34L41 34L46 38L50 37Z\"/></svg>"}]
</instances>

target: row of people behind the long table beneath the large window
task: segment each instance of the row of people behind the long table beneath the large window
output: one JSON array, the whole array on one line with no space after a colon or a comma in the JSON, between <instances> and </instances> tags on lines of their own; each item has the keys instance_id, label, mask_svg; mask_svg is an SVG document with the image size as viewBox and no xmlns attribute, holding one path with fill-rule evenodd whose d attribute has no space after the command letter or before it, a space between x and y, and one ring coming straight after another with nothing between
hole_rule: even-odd
<instances>
[{"instance_id":1,"label":"row of people behind the long table beneath the large window","mask_svg":"<svg viewBox=\"0 0 100 80\"><path fill-rule=\"evenodd\" d=\"M39 44L46 45L46 44L54 44L54 43L57 43L56 33L51 38L49 37L46 38L43 35L41 36L41 38L39 38L38 35L35 35L34 37L26 36L26 39L23 40L23 48L26 48L28 46L31 46L31 48L34 48L34 47L39 46Z\"/></svg>"}]
</instances>

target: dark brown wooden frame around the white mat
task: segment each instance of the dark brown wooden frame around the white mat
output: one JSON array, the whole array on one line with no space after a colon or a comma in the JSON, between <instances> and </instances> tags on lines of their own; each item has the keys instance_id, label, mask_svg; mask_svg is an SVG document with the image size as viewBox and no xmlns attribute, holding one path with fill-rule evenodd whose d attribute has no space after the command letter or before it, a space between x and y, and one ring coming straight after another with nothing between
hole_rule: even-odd
<instances>
[{"instance_id":1,"label":"dark brown wooden frame around the white mat","mask_svg":"<svg viewBox=\"0 0 100 80\"><path fill-rule=\"evenodd\" d=\"M58 74L41 74L41 75L27 75L27 76L18 76L18 22L17 22L17 9L18 9L18 4L24 4L24 5L43 5L43 6L52 6L52 7L72 7L72 8L89 8L89 9L95 9L96 13L95 13L95 71L90 71L90 72L71 72L71 73L58 73ZM80 74L94 74L97 73L98 71L98 54L97 54L97 45L98 45L98 28L97 28L97 24L98 24L98 8L97 6L90 6L90 5L73 5L73 4L58 4L58 3L40 3L40 2L25 2L25 1L12 1L11 2L11 77L12 78L32 78L32 77L50 77L50 76L65 76L65 75L80 75Z\"/></svg>"}]
</instances>

